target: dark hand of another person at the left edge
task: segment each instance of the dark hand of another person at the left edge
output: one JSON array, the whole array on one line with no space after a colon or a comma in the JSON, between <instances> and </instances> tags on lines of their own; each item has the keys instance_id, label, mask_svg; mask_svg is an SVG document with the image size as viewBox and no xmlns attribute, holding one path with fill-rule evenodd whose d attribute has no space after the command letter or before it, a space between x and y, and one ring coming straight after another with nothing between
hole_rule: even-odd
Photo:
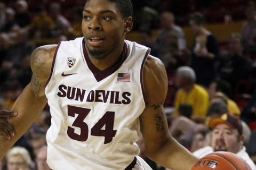
<instances>
[{"instance_id":1,"label":"dark hand of another person at the left edge","mask_svg":"<svg viewBox=\"0 0 256 170\"><path fill-rule=\"evenodd\" d=\"M17 116L17 112L0 111L0 134L10 140L15 135L13 126L9 123L9 117Z\"/></svg>"}]
</instances>

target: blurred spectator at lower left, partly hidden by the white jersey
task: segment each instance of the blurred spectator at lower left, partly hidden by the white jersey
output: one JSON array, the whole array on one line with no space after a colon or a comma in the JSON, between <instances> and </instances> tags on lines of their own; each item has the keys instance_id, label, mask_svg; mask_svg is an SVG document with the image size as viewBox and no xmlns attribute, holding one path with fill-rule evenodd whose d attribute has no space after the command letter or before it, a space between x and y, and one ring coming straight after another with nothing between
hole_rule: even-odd
<instances>
[{"instance_id":1,"label":"blurred spectator at lower left, partly hidden by the white jersey","mask_svg":"<svg viewBox=\"0 0 256 170\"><path fill-rule=\"evenodd\" d=\"M51 170L46 162L47 158L47 146L43 145L41 148L38 149L36 155L36 169L37 170Z\"/></svg>"}]
</instances>

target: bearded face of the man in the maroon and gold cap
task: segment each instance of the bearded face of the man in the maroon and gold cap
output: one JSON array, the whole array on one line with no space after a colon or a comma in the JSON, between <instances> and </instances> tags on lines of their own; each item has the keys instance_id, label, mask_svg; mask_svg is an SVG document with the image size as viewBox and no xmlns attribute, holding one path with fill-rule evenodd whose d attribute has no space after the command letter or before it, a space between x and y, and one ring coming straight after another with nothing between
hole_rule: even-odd
<instances>
[{"instance_id":1,"label":"bearded face of the man in the maroon and gold cap","mask_svg":"<svg viewBox=\"0 0 256 170\"><path fill-rule=\"evenodd\" d=\"M238 131L227 124L218 124L212 133L212 148L214 151L229 151L237 153L243 145L242 138L238 139Z\"/></svg>"}]
</instances>

